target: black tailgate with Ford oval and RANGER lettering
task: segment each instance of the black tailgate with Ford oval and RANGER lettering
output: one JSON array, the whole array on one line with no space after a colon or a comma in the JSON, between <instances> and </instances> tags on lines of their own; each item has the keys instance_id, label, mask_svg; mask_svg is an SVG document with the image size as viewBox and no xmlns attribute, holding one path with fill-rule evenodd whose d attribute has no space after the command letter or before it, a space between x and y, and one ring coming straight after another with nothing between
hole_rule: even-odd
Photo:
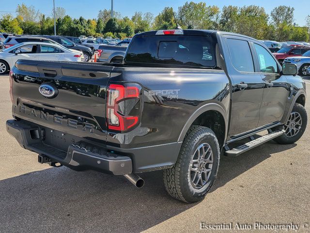
<instances>
[{"instance_id":1,"label":"black tailgate with Ford oval and RANGER lettering","mask_svg":"<svg viewBox=\"0 0 310 233\"><path fill-rule=\"evenodd\" d=\"M105 99L112 68L18 60L13 115L62 133L106 142Z\"/></svg>"}]
</instances>

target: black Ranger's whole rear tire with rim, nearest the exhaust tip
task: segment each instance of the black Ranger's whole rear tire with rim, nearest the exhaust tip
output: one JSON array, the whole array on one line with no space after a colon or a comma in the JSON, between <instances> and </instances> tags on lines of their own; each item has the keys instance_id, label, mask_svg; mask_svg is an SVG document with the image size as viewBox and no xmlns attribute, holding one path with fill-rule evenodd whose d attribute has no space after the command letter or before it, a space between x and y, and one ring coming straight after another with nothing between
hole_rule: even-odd
<instances>
[{"instance_id":1,"label":"black Ranger's whole rear tire with rim, nearest the exhaust tip","mask_svg":"<svg viewBox=\"0 0 310 233\"><path fill-rule=\"evenodd\" d=\"M167 192L184 202L202 200L216 179L219 155L215 133L207 127L191 126L177 162L163 171Z\"/></svg>"}]
</instances>

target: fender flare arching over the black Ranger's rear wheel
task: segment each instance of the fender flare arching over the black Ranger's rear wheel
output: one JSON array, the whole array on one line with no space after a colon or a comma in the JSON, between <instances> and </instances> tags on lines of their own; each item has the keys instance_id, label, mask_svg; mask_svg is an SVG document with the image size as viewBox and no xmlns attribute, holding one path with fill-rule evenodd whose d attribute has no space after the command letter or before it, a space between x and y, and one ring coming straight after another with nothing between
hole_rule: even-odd
<instances>
[{"instance_id":1,"label":"fender flare arching over the black Ranger's rear wheel","mask_svg":"<svg viewBox=\"0 0 310 233\"><path fill-rule=\"evenodd\" d=\"M202 105L200 108L198 108L186 121L185 126L183 127L180 136L178 138L178 142L182 142L185 138L186 132L188 131L189 127L193 124L195 119L200 116L202 113L207 112L207 111L217 111L219 112L225 121L225 141L227 138L227 131L228 131L228 119L227 119L227 113L225 109L217 104L217 103L207 103Z\"/></svg>"}]
</instances>

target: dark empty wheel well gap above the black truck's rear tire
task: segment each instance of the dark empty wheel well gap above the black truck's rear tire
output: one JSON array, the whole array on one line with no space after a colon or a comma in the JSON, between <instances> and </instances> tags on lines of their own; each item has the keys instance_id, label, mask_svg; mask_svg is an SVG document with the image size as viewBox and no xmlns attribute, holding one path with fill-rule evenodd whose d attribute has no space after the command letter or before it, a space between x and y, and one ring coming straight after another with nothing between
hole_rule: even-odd
<instances>
[{"instance_id":1,"label":"dark empty wheel well gap above the black truck's rear tire","mask_svg":"<svg viewBox=\"0 0 310 233\"><path fill-rule=\"evenodd\" d=\"M198 116L192 124L210 128L217 136L219 147L224 146L225 120L219 112L215 110L206 111Z\"/></svg>"}]
</instances>

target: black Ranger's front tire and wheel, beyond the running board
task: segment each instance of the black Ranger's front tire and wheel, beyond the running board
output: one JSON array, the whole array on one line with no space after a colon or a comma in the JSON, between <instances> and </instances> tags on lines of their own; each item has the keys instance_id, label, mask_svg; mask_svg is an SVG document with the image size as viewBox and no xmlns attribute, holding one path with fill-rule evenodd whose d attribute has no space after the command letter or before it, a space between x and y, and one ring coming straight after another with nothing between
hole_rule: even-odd
<instances>
[{"instance_id":1,"label":"black Ranger's front tire and wheel, beyond the running board","mask_svg":"<svg viewBox=\"0 0 310 233\"><path fill-rule=\"evenodd\" d=\"M306 130L307 121L306 109L300 103L295 103L288 122L285 125L274 128L275 130L284 129L285 133L273 140L279 144L292 144L298 141Z\"/></svg>"}]
</instances>

